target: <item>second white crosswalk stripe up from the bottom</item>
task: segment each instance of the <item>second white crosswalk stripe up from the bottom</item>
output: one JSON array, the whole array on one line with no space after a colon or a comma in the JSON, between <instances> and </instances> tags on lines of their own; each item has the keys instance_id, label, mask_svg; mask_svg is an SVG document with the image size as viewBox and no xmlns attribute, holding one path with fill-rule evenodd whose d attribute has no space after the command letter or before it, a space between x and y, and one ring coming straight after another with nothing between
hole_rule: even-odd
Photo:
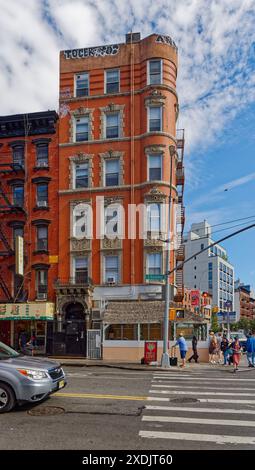
<instances>
[{"instance_id":1,"label":"second white crosswalk stripe up from the bottom","mask_svg":"<svg viewBox=\"0 0 255 470\"><path fill-rule=\"evenodd\" d=\"M255 427L255 421L238 421L236 419L207 419L186 418L185 416L143 416L142 421L156 421L159 423L187 423L187 424L212 424L214 426L246 426Z\"/></svg>"}]
</instances>

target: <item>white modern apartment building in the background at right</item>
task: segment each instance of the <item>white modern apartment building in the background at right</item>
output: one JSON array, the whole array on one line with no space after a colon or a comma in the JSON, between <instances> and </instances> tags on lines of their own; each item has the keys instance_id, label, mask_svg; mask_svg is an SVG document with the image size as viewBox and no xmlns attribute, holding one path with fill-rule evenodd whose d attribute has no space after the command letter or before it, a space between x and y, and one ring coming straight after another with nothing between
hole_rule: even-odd
<instances>
[{"instance_id":1,"label":"white modern apartment building in the background at right","mask_svg":"<svg viewBox=\"0 0 255 470\"><path fill-rule=\"evenodd\" d=\"M185 258L212 243L211 225L208 222L192 224L184 238ZM184 285L212 294L212 306L217 306L221 311L235 310L234 267L221 245L213 246L184 265ZM227 307L226 302L229 301L232 305Z\"/></svg>"}]
</instances>

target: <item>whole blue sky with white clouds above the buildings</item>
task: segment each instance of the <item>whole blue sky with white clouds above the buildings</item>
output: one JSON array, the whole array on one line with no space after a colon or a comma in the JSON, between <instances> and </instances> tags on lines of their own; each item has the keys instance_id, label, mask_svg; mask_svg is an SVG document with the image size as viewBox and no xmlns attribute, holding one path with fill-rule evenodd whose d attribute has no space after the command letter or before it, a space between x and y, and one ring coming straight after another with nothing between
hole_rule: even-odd
<instances>
[{"instance_id":1,"label":"whole blue sky with white clouds above the buildings","mask_svg":"<svg viewBox=\"0 0 255 470\"><path fill-rule=\"evenodd\" d=\"M185 231L206 219L216 240L255 221L255 0L0 0L0 11L0 115L58 109L59 50L124 42L131 30L171 36ZM224 247L255 287L255 229Z\"/></svg>"}]
</instances>

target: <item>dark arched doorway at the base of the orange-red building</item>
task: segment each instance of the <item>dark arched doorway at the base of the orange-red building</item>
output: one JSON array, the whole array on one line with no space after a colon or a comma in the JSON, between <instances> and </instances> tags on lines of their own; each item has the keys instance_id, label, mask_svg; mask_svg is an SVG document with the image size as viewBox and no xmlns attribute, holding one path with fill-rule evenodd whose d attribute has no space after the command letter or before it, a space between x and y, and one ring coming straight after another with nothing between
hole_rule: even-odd
<instances>
[{"instance_id":1,"label":"dark arched doorway at the base of the orange-red building","mask_svg":"<svg viewBox=\"0 0 255 470\"><path fill-rule=\"evenodd\" d=\"M70 303L65 308L65 343L66 354L85 356L85 310L79 302Z\"/></svg>"}]
</instances>

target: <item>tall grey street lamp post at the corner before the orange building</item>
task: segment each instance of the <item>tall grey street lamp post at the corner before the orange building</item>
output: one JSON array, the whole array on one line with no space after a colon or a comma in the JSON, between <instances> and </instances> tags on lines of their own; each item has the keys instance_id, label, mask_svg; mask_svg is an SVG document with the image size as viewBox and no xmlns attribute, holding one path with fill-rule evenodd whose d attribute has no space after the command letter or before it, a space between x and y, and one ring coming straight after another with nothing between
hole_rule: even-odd
<instances>
[{"instance_id":1,"label":"tall grey street lamp post at the corner before the orange building","mask_svg":"<svg viewBox=\"0 0 255 470\"><path fill-rule=\"evenodd\" d=\"M161 367L170 368L168 353L168 326L169 326L169 263L170 263L170 243L171 243L171 203L172 203L172 179L173 179L173 156L175 155L175 146L169 146L170 154L170 193L168 197L168 221L167 221L167 240L166 240L166 275L165 275L165 312L164 312L164 329L163 329L163 354L161 358Z\"/></svg>"}]
</instances>

